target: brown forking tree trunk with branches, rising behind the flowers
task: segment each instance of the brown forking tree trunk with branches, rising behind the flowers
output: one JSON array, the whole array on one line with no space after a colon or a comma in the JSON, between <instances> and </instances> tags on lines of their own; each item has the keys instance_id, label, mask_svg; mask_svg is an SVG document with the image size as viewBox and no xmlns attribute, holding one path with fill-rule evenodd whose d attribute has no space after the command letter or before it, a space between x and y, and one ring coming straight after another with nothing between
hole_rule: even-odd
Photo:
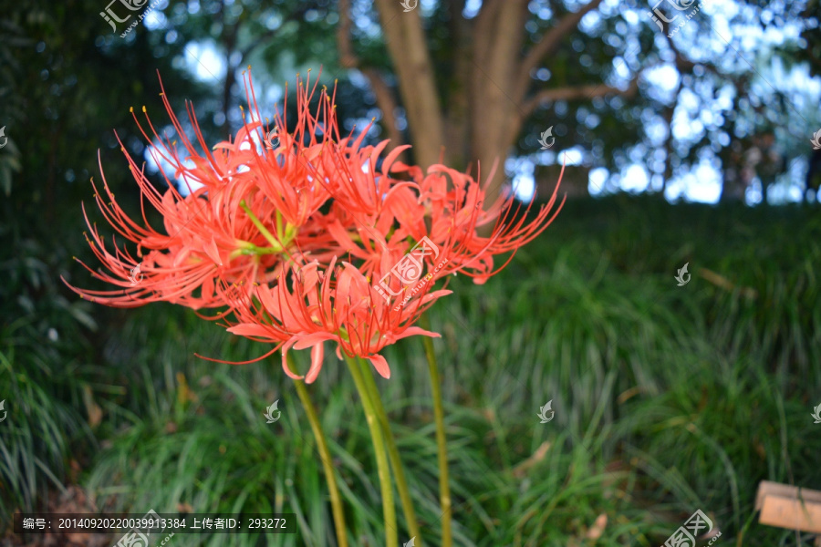
<instances>
[{"instance_id":1,"label":"brown forking tree trunk with branches, rising behind the flowers","mask_svg":"<svg viewBox=\"0 0 821 547\"><path fill-rule=\"evenodd\" d=\"M547 88L528 95L532 71L556 53L582 17L602 0L590 0L577 12L562 15L524 55L528 0L483 0L479 14L471 21L462 16L463 0L449 1L453 55L451 74L441 87L436 85L420 10L403 12L396 0L374 0L374 5L399 80L414 160L423 169L439 163L442 156L454 167L469 166L473 177L486 185L487 206L499 195L504 160L525 119L542 101L589 100L612 93L630 96L638 89L638 78L627 91L599 85ZM347 8L348 1L340 0L340 6ZM347 32L343 29L342 34ZM440 88L446 89L446 117ZM585 178L583 174L579 177ZM577 194L587 195L587 181L577 186Z\"/></svg>"}]
</instances>

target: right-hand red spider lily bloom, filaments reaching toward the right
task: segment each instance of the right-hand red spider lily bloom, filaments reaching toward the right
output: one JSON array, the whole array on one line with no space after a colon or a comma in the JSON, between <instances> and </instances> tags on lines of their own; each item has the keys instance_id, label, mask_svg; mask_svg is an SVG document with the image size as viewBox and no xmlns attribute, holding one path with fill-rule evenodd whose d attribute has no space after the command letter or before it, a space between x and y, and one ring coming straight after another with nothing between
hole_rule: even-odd
<instances>
[{"instance_id":1,"label":"right-hand red spider lily bloom, filaments reaching toward the right","mask_svg":"<svg viewBox=\"0 0 821 547\"><path fill-rule=\"evenodd\" d=\"M544 232L564 205L563 200L553 212L557 184L551 200L527 222L532 204L524 211L514 207L509 191L484 211L485 190L469 174L444 165L433 165L423 174L420 168L401 163L390 167L390 172L407 173L415 183L383 187L382 205L370 217L372 226L356 218L349 219L353 228L345 226L346 216L339 211L327 231L340 249L358 261L362 274L374 277L375 287L385 297L398 297L400 302L411 297L414 285L421 283L424 264L428 272L424 283L462 272L483 284L504 269L520 247ZM388 185L396 181L384 167L381 180ZM477 229L490 222L495 222L490 236L480 236ZM407 254L420 244L417 258ZM431 252L424 252L427 248ZM494 269L494 256L510 252L506 262Z\"/></svg>"}]
</instances>

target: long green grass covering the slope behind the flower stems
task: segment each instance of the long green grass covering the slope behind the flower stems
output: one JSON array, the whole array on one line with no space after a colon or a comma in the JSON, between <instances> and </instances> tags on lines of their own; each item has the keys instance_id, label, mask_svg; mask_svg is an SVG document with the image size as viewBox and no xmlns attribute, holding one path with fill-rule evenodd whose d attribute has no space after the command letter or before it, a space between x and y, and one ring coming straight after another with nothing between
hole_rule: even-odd
<instances>
[{"instance_id":1,"label":"long green grass covering the slope behind the flower stems","mask_svg":"<svg viewBox=\"0 0 821 547\"><path fill-rule=\"evenodd\" d=\"M819 236L821 216L801 208L619 195L568 203L487 284L452 278L454 294L431 322L442 333L434 347L456 543L592 545L587 532L605 514L596 545L659 545L701 509L722 544L795 544L795 532L757 523L753 501L760 480L821 489L821 426L810 418L821 403ZM678 287L685 262L691 282ZM93 365L119 389L96 394L102 449L81 477L99 506L296 512L296 535L178 534L173 544L334 545L315 443L278 356L249 366L200 360L192 354L244 360L266 349L170 305L117 317ZM377 383L423 539L436 545L421 340L384 355L392 377ZM349 540L382 545L368 428L331 351L310 392L342 478ZM277 398L282 418L266 424ZM540 424L548 400L556 415Z\"/></svg>"}]
</instances>

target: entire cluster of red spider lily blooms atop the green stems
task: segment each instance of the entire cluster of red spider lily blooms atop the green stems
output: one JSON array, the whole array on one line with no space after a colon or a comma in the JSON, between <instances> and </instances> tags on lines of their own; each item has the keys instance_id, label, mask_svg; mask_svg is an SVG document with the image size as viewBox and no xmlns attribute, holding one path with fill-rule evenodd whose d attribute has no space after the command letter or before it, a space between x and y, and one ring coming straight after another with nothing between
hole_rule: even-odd
<instances>
[{"instance_id":1,"label":"entire cluster of red spider lily blooms atop the green stems","mask_svg":"<svg viewBox=\"0 0 821 547\"><path fill-rule=\"evenodd\" d=\"M556 217L558 210L549 216L556 191L525 222L529 207L514 211L512 195L484 210L485 191L470 175L444 165L421 170L398 161L409 147L395 148L379 163L388 141L362 146L367 129L357 139L342 138L334 97L326 88L317 94L310 78L297 80L295 129L287 130L286 114L275 116L279 146L263 147L260 134L269 128L260 121L250 71L245 77L255 116L246 117L250 120L233 141L213 150L205 145L191 106L188 116L203 151L185 137L164 88L162 99L184 160L176 141L161 138L146 117L157 142L157 163L172 166L173 179L188 186L187 195L164 171L168 190L157 191L120 142L141 196L162 215L164 232L151 228L144 209L142 222L123 212L103 175L105 197L95 186L99 210L137 244L137 256L116 239L107 248L86 215L88 243L108 272L86 268L121 288L72 286L76 293L120 307L165 301L194 310L226 308L208 318L227 318L230 332L274 344L260 359L281 349L290 377L302 378L288 368L286 352L312 347L308 383L317 378L326 341L337 343L340 358L340 351L367 358L382 377L390 377L379 355L383 347L411 335L439 336L413 326L451 293L443 286L432 290L437 280L462 272L484 283L507 264L494 269L494 255L514 252ZM490 222L490 235L480 236L477 229ZM422 241L422 253L415 252ZM420 290L424 264L428 274Z\"/></svg>"}]
</instances>

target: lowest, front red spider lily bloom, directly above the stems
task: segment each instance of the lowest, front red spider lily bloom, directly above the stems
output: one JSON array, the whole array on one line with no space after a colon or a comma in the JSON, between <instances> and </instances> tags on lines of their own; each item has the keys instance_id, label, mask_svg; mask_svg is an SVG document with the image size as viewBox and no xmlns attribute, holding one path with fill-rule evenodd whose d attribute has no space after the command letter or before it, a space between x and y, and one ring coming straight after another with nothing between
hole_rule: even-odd
<instances>
[{"instance_id":1,"label":"lowest, front red spider lily bloom, directly above the stems","mask_svg":"<svg viewBox=\"0 0 821 547\"><path fill-rule=\"evenodd\" d=\"M396 309L351 263L338 266L334 258L324 271L317 262L298 268L289 265L276 284L256 286L253 298L244 294L244 304L234 307L237 322L228 326L229 332L275 344L264 356L234 364L251 363L282 349L286 375L302 379L288 367L287 352L311 347L311 366L305 377L310 384L322 366L323 344L330 341L337 343L340 359L341 352L368 359L381 377L389 378L390 367L379 351L412 335L439 337L412 325L446 294L451 291L423 291L411 305Z\"/></svg>"}]
</instances>

